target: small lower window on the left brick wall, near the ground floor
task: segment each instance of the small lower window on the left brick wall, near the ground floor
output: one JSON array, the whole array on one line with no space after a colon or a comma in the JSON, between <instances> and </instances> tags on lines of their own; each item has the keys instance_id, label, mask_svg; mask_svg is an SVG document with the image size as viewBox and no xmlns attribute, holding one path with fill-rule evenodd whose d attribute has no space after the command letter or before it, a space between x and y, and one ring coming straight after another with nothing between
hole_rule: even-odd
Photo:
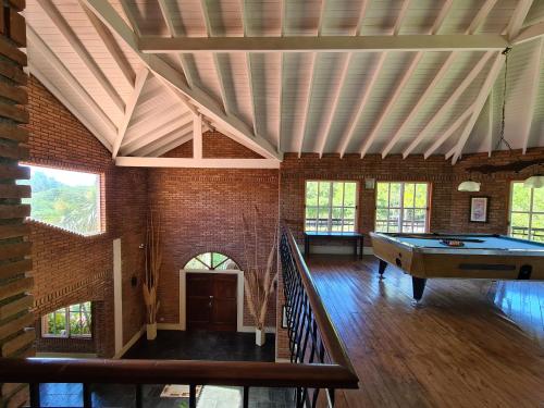
<instances>
[{"instance_id":1,"label":"small lower window on the left brick wall, near the ground floor","mask_svg":"<svg viewBox=\"0 0 544 408\"><path fill-rule=\"evenodd\" d=\"M42 337L91 337L90 301L71 305L41 318Z\"/></svg>"}]
</instances>

